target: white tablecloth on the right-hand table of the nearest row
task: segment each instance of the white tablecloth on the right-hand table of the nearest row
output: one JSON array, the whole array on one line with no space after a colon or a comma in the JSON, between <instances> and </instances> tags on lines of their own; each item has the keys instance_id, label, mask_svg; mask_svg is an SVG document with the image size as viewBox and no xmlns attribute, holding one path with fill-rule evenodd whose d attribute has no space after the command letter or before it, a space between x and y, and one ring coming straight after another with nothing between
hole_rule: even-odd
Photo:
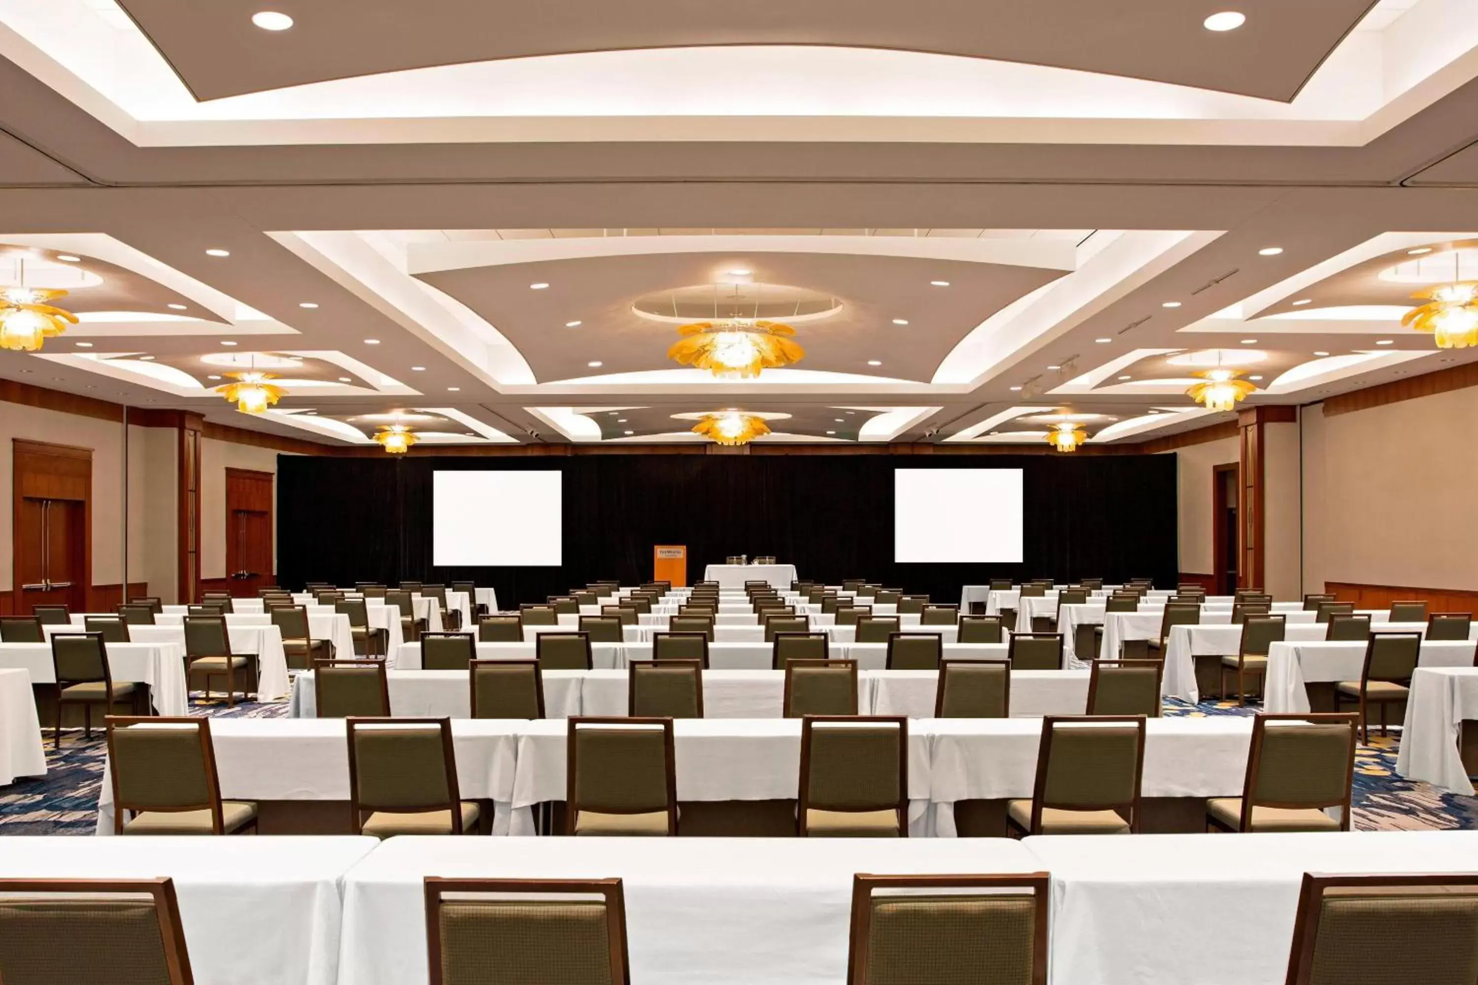
<instances>
[{"instance_id":1,"label":"white tablecloth on the right-hand table of the nearest row","mask_svg":"<svg viewBox=\"0 0 1478 985\"><path fill-rule=\"evenodd\" d=\"M1147 763L1148 765L1148 763ZM1283 985L1304 873L1474 873L1478 833L1030 837L1052 982Z\"/></svg>"}]
</instances>

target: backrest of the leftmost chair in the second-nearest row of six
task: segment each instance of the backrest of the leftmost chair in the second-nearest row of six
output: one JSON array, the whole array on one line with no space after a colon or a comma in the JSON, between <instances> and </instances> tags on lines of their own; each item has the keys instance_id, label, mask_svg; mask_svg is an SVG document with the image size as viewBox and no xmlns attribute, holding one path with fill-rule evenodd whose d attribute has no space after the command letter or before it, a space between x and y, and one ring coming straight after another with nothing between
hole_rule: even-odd
<instances>
[{"instance_id":1,"label":"backrest of the leftmost chair in the second-nearest row of six","mask_svg":"<svg viewBox=\"0 0 1478 985\"><path fill-rule=\"evenodd\" d=\"M109 715L105 721L115 834L129 811L210 811L213 830L222 833L208 718Z\"/></svg>"}]
</instances>

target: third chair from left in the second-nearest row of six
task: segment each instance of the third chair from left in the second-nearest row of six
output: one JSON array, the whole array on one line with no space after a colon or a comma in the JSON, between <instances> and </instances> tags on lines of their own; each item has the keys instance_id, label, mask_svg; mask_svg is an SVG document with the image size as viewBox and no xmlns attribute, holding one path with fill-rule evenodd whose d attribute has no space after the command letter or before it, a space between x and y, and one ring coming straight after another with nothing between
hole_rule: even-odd
<instances>
[{"instance_id":1,"label":"third chair from left in the second-nearest row of six","mask_svg":"<svg viewBox=\"0 0 1478 985\"><path fill-rule=\"evenodd\" d=\"M672 719L571 718L565 746L566 834L677 834Z\"/></svg>"}]
</instances>

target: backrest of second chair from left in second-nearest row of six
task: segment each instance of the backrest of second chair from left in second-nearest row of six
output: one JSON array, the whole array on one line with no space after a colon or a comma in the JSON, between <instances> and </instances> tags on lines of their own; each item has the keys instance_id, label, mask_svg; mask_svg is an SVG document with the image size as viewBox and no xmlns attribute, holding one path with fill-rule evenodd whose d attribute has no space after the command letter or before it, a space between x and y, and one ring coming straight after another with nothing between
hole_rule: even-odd
<instances>
[{"instance_id":1,"label":"backrest of second chair from left in second-nearest row of six","mask_svg":"<svg viewBox=\"0 0 1478 985\"><path fill-rule=\"evenodd\" d=\"M349 802L355 820L365 812L446 811L461 834L457 753L446 718L350 718Z\"/></svg>"}]
</instances>

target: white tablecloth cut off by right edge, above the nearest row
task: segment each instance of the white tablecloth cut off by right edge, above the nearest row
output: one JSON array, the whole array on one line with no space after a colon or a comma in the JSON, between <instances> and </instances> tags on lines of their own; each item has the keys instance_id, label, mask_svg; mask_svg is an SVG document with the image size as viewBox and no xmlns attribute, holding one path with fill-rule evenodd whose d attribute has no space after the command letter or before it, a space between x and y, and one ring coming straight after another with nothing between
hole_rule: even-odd
<instances>
[{"instance_id":1,"label":"white tablecloth cut off by right edge, above the nearest row","mask_svg":"<svg viewBox=\"0 0 1478 985\"><path fill-rule=\"evenodd\" d=\"M1465 719L1478 719L1478 667L1417 667L1395 771L1471 797L1474 784L1457 752Z\"/></svg>"}]
</instances>

